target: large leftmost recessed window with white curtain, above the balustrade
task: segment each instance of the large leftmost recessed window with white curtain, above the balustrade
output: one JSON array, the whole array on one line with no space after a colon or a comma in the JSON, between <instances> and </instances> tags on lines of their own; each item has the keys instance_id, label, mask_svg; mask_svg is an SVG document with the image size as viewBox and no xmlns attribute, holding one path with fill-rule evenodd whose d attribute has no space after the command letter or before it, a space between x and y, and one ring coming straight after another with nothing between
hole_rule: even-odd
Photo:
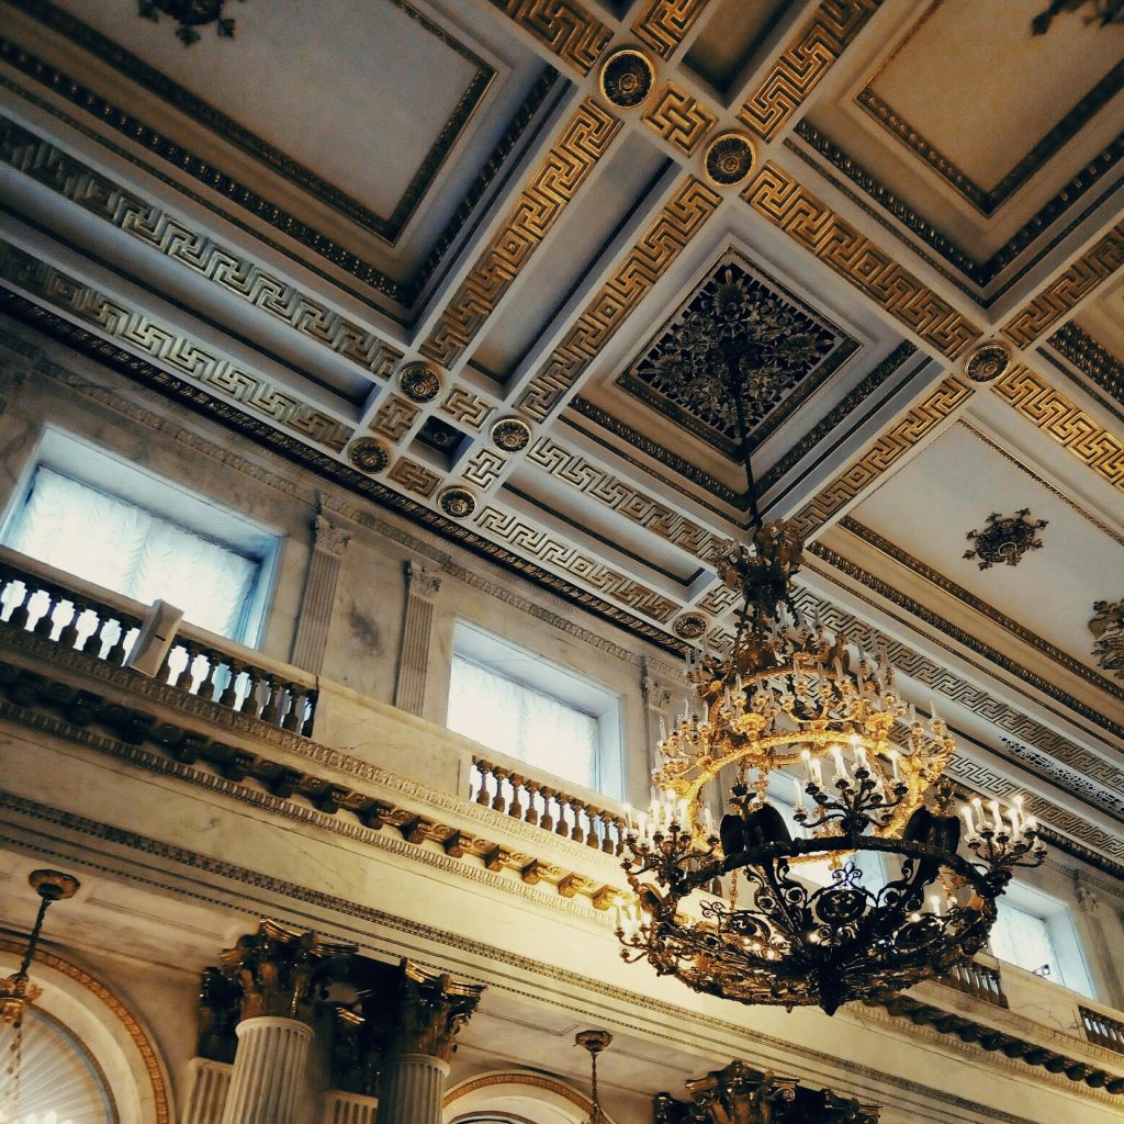
<instances>
[{"instance_id":1,"label":"large leftmost recessed window with white curtain, above the balustrade","mask_svg":"<svg viewBox=\"0 0 1124 1124\"><path fill-rule=\"evenodd\" d=\"M278 537L170 481L47 430L0 541L124 597L257 641Z\"/></svg>"}]
</instances>

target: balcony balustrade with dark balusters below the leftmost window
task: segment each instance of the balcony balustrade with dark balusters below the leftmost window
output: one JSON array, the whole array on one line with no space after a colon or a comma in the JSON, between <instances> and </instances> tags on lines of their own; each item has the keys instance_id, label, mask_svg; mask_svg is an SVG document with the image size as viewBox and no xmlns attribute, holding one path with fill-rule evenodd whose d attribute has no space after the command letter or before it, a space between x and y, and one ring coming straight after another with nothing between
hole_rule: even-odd
<instances>
[{"instance_id":1,"label":"balcony balustrade with dark balusters below the leftmost window","mask_svg":"<svg viewBox=\"0 0 1124 1124\"><path fill-rule=\"evenodd\" d=\"M0 547L0 622L120 665L148 606ZM316 682L296 668L181 623L157 678L282 729L311 736Z\"/></svg>"}]
</instances>

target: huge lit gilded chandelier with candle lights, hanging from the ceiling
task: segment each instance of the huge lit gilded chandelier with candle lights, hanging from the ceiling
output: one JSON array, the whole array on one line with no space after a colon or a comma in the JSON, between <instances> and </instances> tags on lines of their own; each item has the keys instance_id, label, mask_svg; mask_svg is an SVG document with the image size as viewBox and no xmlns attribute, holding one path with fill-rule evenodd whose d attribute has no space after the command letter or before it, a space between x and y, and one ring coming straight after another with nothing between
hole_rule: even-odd
<instances>
[{"instance_id":1,"label":"huge lit gilded chandelier with candle lights, hanging from the ceiling","mask_svg":"<svg viewBox=\"0 0 1124 1124\"><path fill-rule=\"evenodd\" d=\"M710 353L737 413L752 532L717 562L740 596L728 654L689 655L688 701L661 729L659 796L628 815L624 867L634 899L618 904L628 962L697 991L833 1014L945 975L987 941L996 898L1044 847L1021 800L962 809L941 776L954 743L897 694L885 656L804 620L792 600L803 543L756 505L746 397L765 348L752 324L720 324ZM714 371L710 372L715 379ZM767 803L770 777L791 777L794 835ZM717 831L719 776L734 810ZM961 854L963 844L966 854ZM885 878L861 855L880 854ZM799 871L826 860L827 885Z\"/></svg>"}]
</instances>

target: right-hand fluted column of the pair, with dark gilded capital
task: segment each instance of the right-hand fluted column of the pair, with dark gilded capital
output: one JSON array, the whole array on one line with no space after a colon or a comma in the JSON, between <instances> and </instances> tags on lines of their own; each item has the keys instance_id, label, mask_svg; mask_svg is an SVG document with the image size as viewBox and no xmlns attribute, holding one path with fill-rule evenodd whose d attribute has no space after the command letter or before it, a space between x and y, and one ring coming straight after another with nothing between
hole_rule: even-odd
<instances>
[{"instance_id":1,"label":"right-hand fluted column of the pair, with dark gilded capital","mask_svg":"<svg viewBox=\"0 0 1124 1124\"><path fill-rule=\"evenodd\" d=\"M441 1124L441 1102L455 1039L483 987L410 960L365 1004L383 1031L375 1124Z\"/></svg>"}]
</instances>

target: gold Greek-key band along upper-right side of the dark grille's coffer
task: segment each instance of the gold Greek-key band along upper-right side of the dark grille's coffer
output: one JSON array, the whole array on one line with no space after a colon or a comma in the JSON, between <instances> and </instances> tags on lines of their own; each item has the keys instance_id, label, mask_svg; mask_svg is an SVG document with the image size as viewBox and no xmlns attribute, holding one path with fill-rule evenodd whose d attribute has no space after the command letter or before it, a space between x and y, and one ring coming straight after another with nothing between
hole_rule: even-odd
<instances>
[{"instance_id":1,"label":"gold Greek-key band along upper-right side of the dark grille's coffer","mask_svg":"<svg viewBox=\"0 0 1124 1124\"><path fill-rule=\"evenodd\" d=\"M943 297L772 161L742 198L948 359L980 337L980 329Z\"/></svg>"}]
</instances>

